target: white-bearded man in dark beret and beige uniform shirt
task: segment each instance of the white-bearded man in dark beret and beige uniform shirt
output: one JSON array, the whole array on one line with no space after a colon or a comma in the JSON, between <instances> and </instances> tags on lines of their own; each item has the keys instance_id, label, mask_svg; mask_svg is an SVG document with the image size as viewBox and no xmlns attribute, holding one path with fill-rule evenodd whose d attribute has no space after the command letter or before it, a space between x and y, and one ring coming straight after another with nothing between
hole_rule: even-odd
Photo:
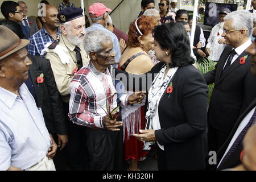
<instances>
[{"instance_id":1,"label":"white-bearded man in dark beret and beige uniform shirt","mask_svg":"<svg viewBox=\"0 0 256 182\"><path fill-rule=\"evenodd\" d=\"M85 35L85 19L82 15L82 9L76 7L63 9L57 14L57 18L60 20L60 39L47 45L44 51L47 52L46 58L51 62L52 72L67 117L69 139L66 150L68 163L72 170L83 170L85 164L81 160L81 155L86 155L86 151L82 151L81 144L86 145L86 133L85 129L83 130L69 120L68 104L70 82L76 72L89 62L89 57L82 46Z\"/></svg>"}]
</instances>

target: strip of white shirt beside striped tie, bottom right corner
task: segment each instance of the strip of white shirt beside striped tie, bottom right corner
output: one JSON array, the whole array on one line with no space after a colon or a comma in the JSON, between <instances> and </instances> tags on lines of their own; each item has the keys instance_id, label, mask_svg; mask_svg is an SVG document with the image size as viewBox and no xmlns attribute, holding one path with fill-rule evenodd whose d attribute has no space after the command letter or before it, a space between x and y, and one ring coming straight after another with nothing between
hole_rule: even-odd
<instances>
[{"instance_id":1,"label":"strip of white shirt beside striped tie, bottom right corner","mask_svg":"<svg viewBox=\"0 0 256 182\"><path fill-rule=\"evenodd\" d=\"M238 135L239 135L239 134L241 133L241 131L245 128L245 126L247 125L247 123L250 121L250 118L253 116L254 110L255 110L255 107L253 107L253 109L251 109L250 113L248 113L248 114L246 115L246 117L243 118L242 122L240 123L240 125L239 125L238 128L237 128L236 133L234 134L232 140L230 141L229 146L228 146L228 148L227 148L226 151L225 151L225 154L222 156L222 158L221 158L221 160L220 160L220 163L222 162L224 156L228 153L229 149L232 147L233 143L236 141ZM218 163L218 166L220 166L220 163Z\"/></svg>"}]
</instances>

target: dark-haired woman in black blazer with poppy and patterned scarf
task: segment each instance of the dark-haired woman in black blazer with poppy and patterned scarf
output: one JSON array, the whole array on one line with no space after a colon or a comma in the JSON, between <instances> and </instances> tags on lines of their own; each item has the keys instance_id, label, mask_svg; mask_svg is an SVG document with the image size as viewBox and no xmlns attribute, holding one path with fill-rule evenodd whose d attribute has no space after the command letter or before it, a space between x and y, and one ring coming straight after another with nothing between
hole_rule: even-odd
<instances>
[{"instance_id":1,"label":"dark-haired woman in black blazer with poppy and patterned scarf","mask_svg":"<svg viewBox=\"0 0 256 182\"><path fill-rule=\"evenodd\" d=\"M193 67L189 38L179 23L155 27L161 61L147 93L147 130L135 134L145 147L156 142L159 170L198 170L207 158L207 84ZM146 74L148 74L146 73Z\"/></svg>"}]
</instances>

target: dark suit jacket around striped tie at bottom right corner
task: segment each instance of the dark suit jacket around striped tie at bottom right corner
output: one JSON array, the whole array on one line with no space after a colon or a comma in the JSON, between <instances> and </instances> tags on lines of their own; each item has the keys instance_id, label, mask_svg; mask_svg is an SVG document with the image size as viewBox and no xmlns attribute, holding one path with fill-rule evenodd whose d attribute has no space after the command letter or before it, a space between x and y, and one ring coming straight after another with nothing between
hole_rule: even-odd
<instances>
[{"instance_id":1,"label":"dark suit jacket around striped tie at bottom right corner","mask_svg":"<svg viewBox=\"0 0 256 182\"><path fill-rule=\"evenodd\" d=\"M242 122L243 118L246 117L246 115L251 111L251 109L253 109L256 106L256 98L254 98L253 102L251 102L251 104L245 109L245 111L243 111L243 113L240 115L240 117L238 117L228 139L225 141L225 143L221 146L220 150L218 150L217 152L217 163L220 163L220 160L222 158L222 156L225 154L226 148L228 148L230 141L232 140L234 134L237 131L238 126L240 125L240 123ZM240 143L240 145L236 148L236 150L233 152L232 155L229 156L228 159L225 160L224 163L221 164L221 166L219 166L217 168L217 170L222 170L222 169L227 169L227 168L233 168L238 166L239 164L241 164L240 161L240 154L243 150L243 145L242 143Z\"/></svg>"}]
</instances>

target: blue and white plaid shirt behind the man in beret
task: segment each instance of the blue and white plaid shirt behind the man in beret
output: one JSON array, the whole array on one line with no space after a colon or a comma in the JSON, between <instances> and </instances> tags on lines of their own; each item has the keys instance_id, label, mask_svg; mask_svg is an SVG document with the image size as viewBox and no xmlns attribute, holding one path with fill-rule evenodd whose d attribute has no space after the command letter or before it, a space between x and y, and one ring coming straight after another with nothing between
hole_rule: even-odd
<instances>
[{"instance_id":1,"label":"blue and white plaid shirt behind the man in beret","mask_svg":"<svg viewBox=\"0 0 256 182\"><path fill-rule=\"evenodd\" d=\"M60 36L60 28L57 31L57 38ZM30 44L28 44L27 53L29 55L40 56L41 51L44 49L44 45L53 42L54 39L48 34L45 28L42 28L30 38ZM46 53L42 57L46 57Z\"/></svg>"}]
</instances>

